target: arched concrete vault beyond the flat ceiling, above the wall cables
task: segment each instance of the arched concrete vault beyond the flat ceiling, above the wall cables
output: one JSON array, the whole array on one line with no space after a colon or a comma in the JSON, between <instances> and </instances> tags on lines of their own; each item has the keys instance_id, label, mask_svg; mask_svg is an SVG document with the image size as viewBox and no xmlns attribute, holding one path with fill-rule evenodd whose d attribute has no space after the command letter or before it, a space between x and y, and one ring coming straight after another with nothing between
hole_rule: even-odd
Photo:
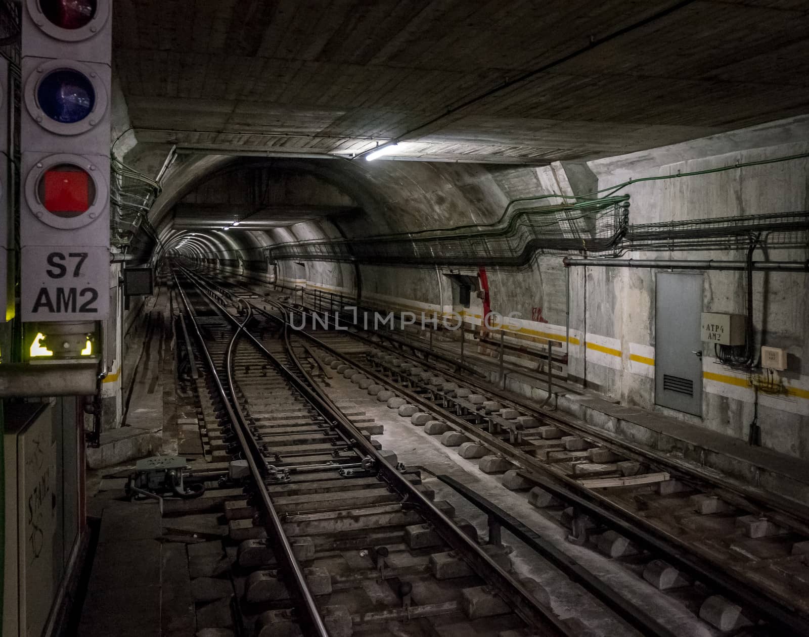
<instances>
[{"instance_id":1,"label":"arched concrete vault beyond the flat ceiling, above the wall cables","mask_svg":"<svg viewBox=\"0 0 809 637\"><path fill-rule=\"evenodd\" d=\"M354 238L489 223L512 198L553 192L553 184L543 181L540 169L526 166L209 159L186 158L167 173L172 194L164 192L152 209L152 222L161 229L166 247L186 240L189 246L195 241L215 245L219 252L249 251L308 238ZM265 197L264 204L232 203L250 200L249 193L256 188L257 196ZM266 201L273 204L268 206ZM313 208L325 209L324 214L296 216L301 209ZM256 211L265 221L253 227L250 219ZM237 218L232 215L238 216L238 227L232 225ZM273 221L273 215L282 221ZM189 241L193 235L196 238Z\"/></svg>"}]
</instances>

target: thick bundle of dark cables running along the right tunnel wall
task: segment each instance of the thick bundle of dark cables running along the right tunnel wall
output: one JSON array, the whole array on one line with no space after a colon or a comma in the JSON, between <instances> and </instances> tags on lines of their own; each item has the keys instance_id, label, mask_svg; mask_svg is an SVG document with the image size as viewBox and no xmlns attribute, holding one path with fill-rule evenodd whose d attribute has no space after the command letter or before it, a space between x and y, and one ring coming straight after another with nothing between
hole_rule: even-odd
<instances>
[{"instance_id":1,"label":"thick bundle of dark cables running along the right tunnel wall","mask_svg":"<svg viewBox=\"0 0 809 637\"><path fill-rule=\"evenodd\" d=\"M768 233L773 249L805 249L809 245L809 210L630 224L629 195L619 196L617 192L642 182L685 179L806 158L809 153L629 179L582 195L518 197L510 200L501 217L489 224L278 243L266 250L273 259L526 270L536 255L613 258L626 251L743 250L748 248L751 234L757 233ZM559 199L566 203L540 205Z\"/></svg>"}]
</instances>

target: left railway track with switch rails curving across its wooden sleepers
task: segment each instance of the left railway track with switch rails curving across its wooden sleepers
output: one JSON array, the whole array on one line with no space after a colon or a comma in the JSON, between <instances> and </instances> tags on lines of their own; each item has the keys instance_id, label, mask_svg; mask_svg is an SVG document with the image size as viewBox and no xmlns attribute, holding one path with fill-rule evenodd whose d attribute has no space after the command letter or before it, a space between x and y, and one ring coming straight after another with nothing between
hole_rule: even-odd
<instances>
[{"instance_id":1,"label":"left railway track with switch rails curving across its wooden sleepers","mask_svg":"<svg viewBox=\"0 0 809 637\"><path fill-rule=\"evenodd\" d=\"M237 461L222 484L244 483L222 497L239 632L580 634L318 389L281 323L176 283L218 414L205 433Z\"/></svg>"}]
</instances>

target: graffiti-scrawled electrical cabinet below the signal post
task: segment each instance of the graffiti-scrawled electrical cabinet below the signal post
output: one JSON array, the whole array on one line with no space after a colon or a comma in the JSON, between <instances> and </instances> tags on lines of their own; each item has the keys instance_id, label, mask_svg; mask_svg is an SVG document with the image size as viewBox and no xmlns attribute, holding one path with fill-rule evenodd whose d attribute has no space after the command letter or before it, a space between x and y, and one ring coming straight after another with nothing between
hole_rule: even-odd
<instances>
[{"instance_id":1,"label":"graffiti-scrawled electrical cabinet below the signal post","mask_svg":"<svg viewBox=\"0 0 809 637\"><path fill-rule=\"evenodd\" d=\"M77 403L6 406L3 637L42 635L70 574L83 527Z\"/></svg>"}]
</instances>

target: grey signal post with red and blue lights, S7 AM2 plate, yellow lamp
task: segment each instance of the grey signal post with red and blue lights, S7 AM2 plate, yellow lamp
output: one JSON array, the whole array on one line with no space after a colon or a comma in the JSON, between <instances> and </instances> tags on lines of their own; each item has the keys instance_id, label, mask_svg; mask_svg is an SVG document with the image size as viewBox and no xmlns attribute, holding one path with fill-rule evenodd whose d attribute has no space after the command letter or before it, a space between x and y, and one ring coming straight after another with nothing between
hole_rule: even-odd
<instances>
[{"instance_id":1,"label":"grey signal post with red and blue lights, S7 AM2 plate, yellow lamp","mask_svg":"<svg viewBox=\"0 0 809 637\"><path fill-rule=\"evenodd\" d=\"M98 322L109 311L111 2L24 4L19 200L20 314L32 344L26 353L32 362L87 360L98 356Z\"/></svg>"}]
</instances>

